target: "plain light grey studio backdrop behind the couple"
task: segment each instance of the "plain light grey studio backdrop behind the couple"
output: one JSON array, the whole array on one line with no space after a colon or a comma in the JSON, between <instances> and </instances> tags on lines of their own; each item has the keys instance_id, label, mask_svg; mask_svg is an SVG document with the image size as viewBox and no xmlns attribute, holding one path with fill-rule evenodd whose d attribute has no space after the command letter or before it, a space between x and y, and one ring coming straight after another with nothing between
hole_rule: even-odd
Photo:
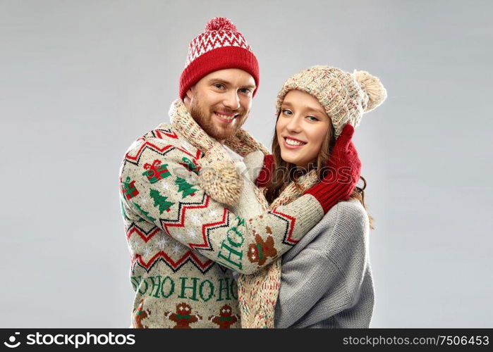
<instances>
[{"instance_id":1,"label":"plain light grey studio backdrop behind the couple","mask_svg":"<svg viewBox=\"0 0 493 352\"><path fill-rule=\"evenodd\" d=\"M493 327L491 1L0 1L0 327L128 327L118 168L168 120L188 42L233 20L260 63L245 127L310 65L387 101L355 145L376 219L371 327Z\"/></svg>"}]
</instances>

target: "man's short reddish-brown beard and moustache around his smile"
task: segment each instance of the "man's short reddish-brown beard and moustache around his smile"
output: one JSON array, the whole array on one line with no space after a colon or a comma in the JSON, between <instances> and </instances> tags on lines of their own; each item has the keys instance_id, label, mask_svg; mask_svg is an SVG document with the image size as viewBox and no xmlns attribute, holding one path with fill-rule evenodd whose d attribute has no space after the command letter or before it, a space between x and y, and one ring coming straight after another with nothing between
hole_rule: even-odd
<instances>
[{"instance_id":1,"label":"man's short reddish-brown beard and moustache around his smile","mask_svg":"<svg viewBox=\"0 0 493 352\"><path fill-rule=\"evenodd\" d=\"M225 108L221 108L220 110L228 113L233 113L233 111ZM240 114L235 119L241 120L231 122L231 128L223 130L219 129L217 125L214 125L214 121L212 120L214 118L212 116L213 111L209 112L205 109L202 109L197 103L195 103L195 101L190 103L188 111L190 112L190 115L192 115L193 120L195 120L195 122L197 122L197 124L202 127L202 130L204 130L205 133L209 134L210 137L216 139L217 141L224 141L224 139L228 139L229 137L232 137L234 134L236 134L236 131L240 129L240 127L243 125L243 122L245 122L248 116L245 115L245 111L243 109L235 111L236 113ZM232 127L233 124L235 124L234 127Z\"/></svg>"}]
</instances>

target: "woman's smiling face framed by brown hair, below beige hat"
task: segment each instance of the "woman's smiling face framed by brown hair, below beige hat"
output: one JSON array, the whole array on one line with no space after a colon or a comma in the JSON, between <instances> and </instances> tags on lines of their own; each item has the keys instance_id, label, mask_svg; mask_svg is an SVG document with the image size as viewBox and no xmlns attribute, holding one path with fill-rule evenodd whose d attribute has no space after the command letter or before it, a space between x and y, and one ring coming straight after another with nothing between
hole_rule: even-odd
<instances>
[{"instance_id":1,"label":"woman's smiling face framed by brown hair, below beige hat","mask_svg":"<svg viewBox=\"0 0 493 352\"><path fill-rule=\"evenodd\" d=\"M330 128L329 115L314 96L299 90L289 91L276 123L281 158L295 164L298 170L308 170L310 163L316 165Z\"/></svg>"}]
</instances>

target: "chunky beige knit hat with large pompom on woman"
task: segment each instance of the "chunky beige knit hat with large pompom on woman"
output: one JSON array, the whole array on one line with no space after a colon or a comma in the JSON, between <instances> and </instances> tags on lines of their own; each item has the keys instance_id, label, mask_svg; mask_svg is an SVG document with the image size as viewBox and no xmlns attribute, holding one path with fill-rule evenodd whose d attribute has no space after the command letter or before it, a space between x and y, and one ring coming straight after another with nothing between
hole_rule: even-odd
<instances>
[{"instance_id":1,"label":"chunky beige knit hat with large pompom on woman","mask_svg":"<svg viewBox=\"0 0 493 352\"><path fill-rule=\"evenodd\" d=\"M318 65L288 78L277 94L276 115L291 89L315 96L331 118L336 137L346 123L357 127L363 113L372 111L387 98L380 80L366 71L347 73L339 68Z\"/></svg>"}]
</instances>

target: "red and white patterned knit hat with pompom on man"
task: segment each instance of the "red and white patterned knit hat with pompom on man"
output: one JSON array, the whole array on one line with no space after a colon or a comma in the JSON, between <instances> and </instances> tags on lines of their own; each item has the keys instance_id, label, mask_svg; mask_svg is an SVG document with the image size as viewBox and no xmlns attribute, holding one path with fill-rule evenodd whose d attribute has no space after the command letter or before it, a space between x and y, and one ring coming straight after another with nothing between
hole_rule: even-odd
<instances>
[{"instance_id":1,"label":"red and white patterned knit hat with pompom on man","mask_svg":"<svg viewBox=\"0 0 493 352\"><path fill-rule=\"evenodd\" d=\"M225 68L239 68L250 73L258 89L258 62L252 48L231 20L214 17L205 26L205 32L200 33L188 45L185 69L180 76L180 99L202 77Z\"/></svg>"}]
</instances>

